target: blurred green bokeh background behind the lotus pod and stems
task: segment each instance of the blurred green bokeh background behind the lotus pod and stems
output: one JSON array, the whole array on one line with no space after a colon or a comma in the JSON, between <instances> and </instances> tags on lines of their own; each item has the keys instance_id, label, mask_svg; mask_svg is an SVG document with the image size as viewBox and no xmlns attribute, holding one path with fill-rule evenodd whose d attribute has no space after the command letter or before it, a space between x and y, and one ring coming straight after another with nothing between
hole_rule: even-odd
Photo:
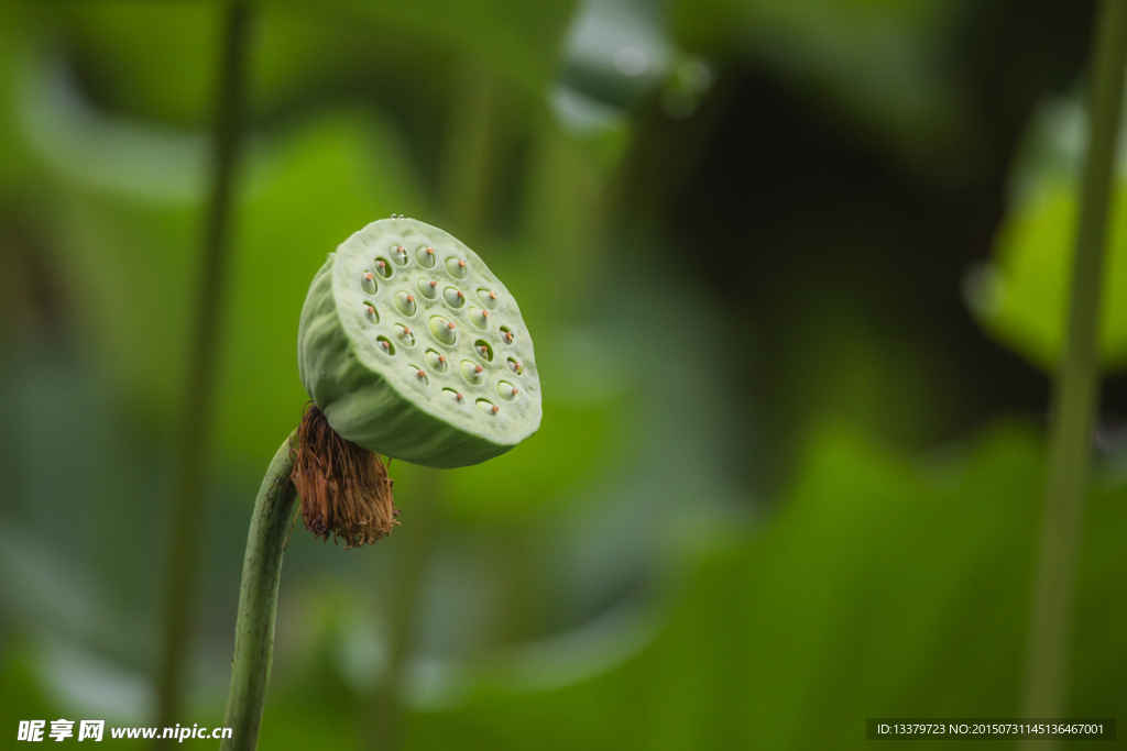
<instances>
[{"instance_id":1,"label":"blurred green bokeh background behind the lotus pod and stems","mask_svg":"<svg viewBox=\"0 0 1127 751\"><path fill-rule=\"evenodd\" d=\"M517 295L543 426L394 463L373 548L294 533L260 748L383 748L389 694L402 749L1018 716L1091 3L254 8L183 723L222 717L309 281L392 213ZM152 721L222 18L0 5L0 733ZM1120 162L1073 716L1127 717Z\"/></svg>"}]
</instances>

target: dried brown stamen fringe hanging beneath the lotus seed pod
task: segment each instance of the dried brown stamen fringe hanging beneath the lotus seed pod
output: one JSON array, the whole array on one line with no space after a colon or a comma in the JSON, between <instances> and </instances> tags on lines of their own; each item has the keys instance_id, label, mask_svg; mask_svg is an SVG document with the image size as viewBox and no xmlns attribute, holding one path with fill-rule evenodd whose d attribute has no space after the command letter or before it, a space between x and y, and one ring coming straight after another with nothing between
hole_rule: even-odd
<instances>
[{"instance_id":1,"label":"dried brown stamen fringe hanging beneath the lotus seed pod","mask_svg":"<svg viewBox=\"0 0 1127 751\"><path fill-rule=\"evenodd\" d=\"M346 547L371 545L391 534L399 511L378 454L341 438L310 403L301 420L293 480L305 529Z\"/></svg>"}]
</instances>

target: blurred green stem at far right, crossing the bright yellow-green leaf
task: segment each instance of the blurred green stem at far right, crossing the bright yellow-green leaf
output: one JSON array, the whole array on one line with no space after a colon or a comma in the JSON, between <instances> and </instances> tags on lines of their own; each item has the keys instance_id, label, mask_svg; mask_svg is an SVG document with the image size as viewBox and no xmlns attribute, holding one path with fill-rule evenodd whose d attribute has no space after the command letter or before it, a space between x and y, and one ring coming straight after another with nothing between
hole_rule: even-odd
<instances>
[{"instance_id":1,"label":"blurred green stem at far right, crossing the bright yellow-green leaf","mask_svg":"<svg viewBox=\"0 0 1127 751\"><path fill-rule=\"evenodd\" d=\"M1099 323L1127 65L1127 0L1101 2L1092 61L1089 147L1080 196L1068 329L1053 394L1054 422L1022 710L1026 717L1059 717L1065 710L1073 587L1100 381Z\"/></svg>"}]
</instances>

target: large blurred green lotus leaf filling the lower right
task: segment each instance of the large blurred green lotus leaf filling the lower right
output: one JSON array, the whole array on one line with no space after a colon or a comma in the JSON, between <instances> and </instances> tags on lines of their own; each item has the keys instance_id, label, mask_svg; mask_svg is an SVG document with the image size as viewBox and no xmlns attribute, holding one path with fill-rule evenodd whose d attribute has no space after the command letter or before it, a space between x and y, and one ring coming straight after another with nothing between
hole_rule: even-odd
<instances>
[{"instance_id":1,"label":"large blurred green lotus leaf filling the lower right","mask_svg":"<svg viewBox=\"0 0 1127 751\"><path fill-rule=\"evenodd\" d=\"M1014 427L925 462L825 431L775 518L700 567L649 649L568 688L479 685L415 715L407 748L862 749L864 717L1015 716L1041 454ZM1127 585L1125 494L1089 506L1070 716L1127 709L1127 609L1107 594Z\"/></svg>"}]
</instances>

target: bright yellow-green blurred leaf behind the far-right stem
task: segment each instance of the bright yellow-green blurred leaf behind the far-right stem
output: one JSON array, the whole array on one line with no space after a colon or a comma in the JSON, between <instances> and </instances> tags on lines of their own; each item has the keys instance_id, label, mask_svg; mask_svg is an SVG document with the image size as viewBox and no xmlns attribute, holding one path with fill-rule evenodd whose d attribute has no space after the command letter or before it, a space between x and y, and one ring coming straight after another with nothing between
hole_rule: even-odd
<instances>
[{"instance_id":1,"label":"bright yellow-green blurred leaf behind the far-right stem","mask_svg":"<svg viewBox=\"0 0 1127 751\"><path fill-rule=\"evenodd\" d=\"M1011 180L1010 208L994 257L968 277L983 328L1051 370L1064 346L1076 241L1079 171L1085 118L1076 101L1035 115ZM1100 347L1104 364L1127 364L1127 168L1120 160L1108 234Z\"/></svg>"}]
</instances>

